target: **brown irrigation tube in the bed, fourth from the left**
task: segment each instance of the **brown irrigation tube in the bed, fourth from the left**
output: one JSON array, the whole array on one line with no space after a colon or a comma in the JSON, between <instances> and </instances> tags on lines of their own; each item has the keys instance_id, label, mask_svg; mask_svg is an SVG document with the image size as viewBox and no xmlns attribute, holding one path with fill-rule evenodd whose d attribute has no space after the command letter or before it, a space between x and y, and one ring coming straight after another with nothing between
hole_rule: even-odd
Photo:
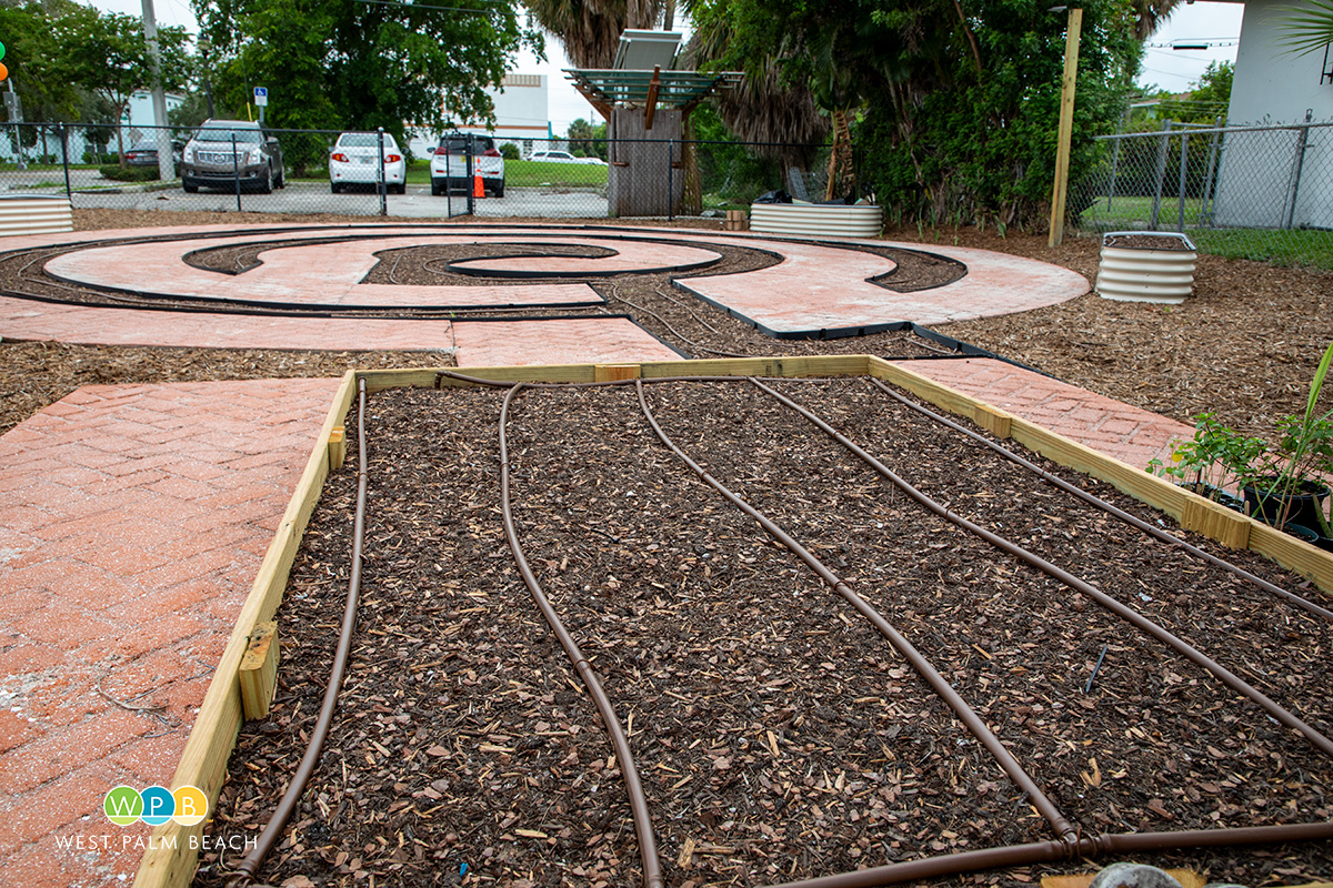
<instances>
[{"instance_id":1,"label":"brown irrigation tube in the bed, fourth from the left","mask_svg":"<svg viewBox=\"0 0 1333 888\"><path fill-rule=\"evenodd\" d=\"M1301 719L1298 719L1296 715L1293 715L1292 712L1289 712L1286 708L1284 708L1276 700L1270 699L1262 691L1260 691L1258 688L1256 688L1252 684L1249 684L1248 682L1245 682L1245 679L1240 678L1238 675L1236 675L1234 672L1232 672L1230 670L1228 670L1222 664L1220 664L1216 660L1213 660L1212 658L1209 658L1206 654L1204 654L1202 651L1200 651L1193 644L1185 642L1184 639L1178 638L1177 635L1173 635L1172 632L1169 632L1168 630L1162 628L1157 623L1152 622L1150 619L1148 619L1146 616L1144 616L1138 611L1132 610L1132 608L1126 607L1125 604L1121 604L1120 602L1117 602L1110 595L1106 595L1105 592L1102 592L1101 590L1098 590L1096 586L1088 583L1086 580L1082 580L1082 579L1074 576L1073 574L1070 574L1069 571L1064 570L1062 567L1057 567L1056 564L1048 562L1046 559L1041 558L1040 555L1028 551L1022 546L1018 546L1017 543L1010 542L1009 539L1005 539L1004 537L1000 537L998 534L994 534L994 533L986 530L985 527L981 527L980 525L976 525L976 523L968 521L966 518L962 518L961 515L957 515L957 514L949 511L941 503L936 502L934 499L932 499L926 494L921 493L920 490L917 490L916 487L913 487L912 485L909 485L906 481L904 481L897 474L894 474L892 469L889 469L882 462L880 462L878 459L876 459L874 457L872 457L870 454L868 454L865 450L862 450L856 443L853 443L849 438L846 438L845 435L840 434L836 429L833 429L833 426L830 426L829 423L824 422L822 419L820 419L817 415L814 415L813 413L810 413L809 410L806 410L801 405L796 403L794 401L792 401L786 395L781 394L780 391L776 391L774 389L768 387L766 385L764 385L758 379L753 379L752 378L750 382L753 382L761 390L766 391L768 394L770 394L777 401L785 403L788 407L796 410L802 417L805 417L806 419L809 419L810 422L813 422L816 426L818 426L824 433L826 433L829 437L832 437L840 445L842 445L844 447L846 447L848 450L850 450L853 454L856 454L857 457L860 457L866 465L869 465L872 469L874 469L877 473L880 473L880 475L882 475L885 479L888 479L893 486L896 486L897 489L900 489L902 493L905 493L912 499L916 499L918 503L921 503L922 506L925 506L926 509L929 509L930 511L933 511L936 515L940 515L945 521L949 521L949 522L957 525L958 527L961 527L961 529L964 529L964 530L966 530L966 531L969 531L969 533L980 537L981 539L986 541L988 543L990 543L996 549L1000 549L1001 551L1009 553L1014 558L1017 558L1017 559L1020 559L1022 562L1026 562L1028 564L1030 564L1030 566L1041 570L1042 572L1045 572L1046 575L1049 575L1049 576L1060 580L1065 586L1068 586L1068 587L1070 587L1070 588L1073 588L1073 590L1076 590L1078 592L1082 592L1084 595L1088 595L1094 602L1097 602L1098 604L1101 604L1102 607L1105 607L1110 612L1116 614L1117 616L1120 616L1125 622L1128 622L1132 626L1134 626L1134 627L1137 627L1137 628L1148 632L1149 635L1152 635L1157 640L1165 642L1177 654L1181 654L1182 656L1193 660L1196 664L1204 667L1205 670L1208 670L1209 672L1212 672L1214 676L1217 676L1218 679L1221 679L1221 682L1224 684L1226 684L1228 687L1230 687L1233 691L1237 691L1238 694L1249 698L1254 703L1258 703L1261 707L1264 707L1264 710L1269 715L1272 715L1274 719L1277 719L1278 722L1281 722L1286 727L1294 728L1294 730L1300 731L1301 734L1304 734L1305 739L1309 740L1310 744L1313 744L1317 750L1320 750L1325 755L1333 758L1333 740L1329 740L1326 736L1324 736L1322 734L1320 734L1314 727L1312 727L1312 726L1306 724L1305 722L1302 722Z\"/></svg>"}]
</instances>

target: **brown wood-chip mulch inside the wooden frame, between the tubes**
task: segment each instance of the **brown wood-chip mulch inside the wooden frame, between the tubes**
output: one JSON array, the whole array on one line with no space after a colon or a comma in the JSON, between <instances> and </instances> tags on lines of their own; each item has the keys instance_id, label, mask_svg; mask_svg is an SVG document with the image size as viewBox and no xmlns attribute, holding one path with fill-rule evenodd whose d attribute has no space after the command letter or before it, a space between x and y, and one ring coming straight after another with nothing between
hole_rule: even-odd
<instances>
[{"instance_id":1,"label":"brown wood-chip mulch inside the wooden frame, between the tubes","mask_svg":"<svg viewBox=\"0 0 1333 888\"><path fill-rule=\"evenodd\" d=\"M1333 730L1325 622L1144 539L864 381L776 387L952 510ZM668 434L878 607L1086 832L1333 816L1333 766L1304 739L1093 602L930 517L756 387L647 393ZM639 881L611 746L505 542L501 397L371 399L353 658L320 768L261 873L271 884ZM508 431L521 542L628 722L668 884L772 884L1050 837L888 642L661 446L633 389L529 390ZM1161 519L1105 485L1076 483ZM219 835L253 835L300 759L336 646L355 489L352 454L293 567L275 711L241 731ZM1304 586L1250 554L1228 556ZM1333 848L1149 860L1258 885L1328 873ZM223 884L223 863L204 859L197 884Z\"/></svg>"}]
</instances>

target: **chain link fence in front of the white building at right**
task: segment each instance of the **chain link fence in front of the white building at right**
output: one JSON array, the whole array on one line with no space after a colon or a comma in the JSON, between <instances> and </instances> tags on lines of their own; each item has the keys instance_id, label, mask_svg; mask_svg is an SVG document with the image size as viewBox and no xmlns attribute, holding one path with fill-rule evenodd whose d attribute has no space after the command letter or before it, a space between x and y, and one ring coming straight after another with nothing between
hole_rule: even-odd
<instances>
[{"instance_id":1,"label":"chain link fence in front of the white building at right","mask_svg":"<svg viewBox=\"0 0 1333 888\"><path fill-rule=\"evenodd\" d=\"M1090 232L1182 232L1204 253L1333 268L1333 124L1106 136L1074 192Z\"/></svg>"}]
</instances>

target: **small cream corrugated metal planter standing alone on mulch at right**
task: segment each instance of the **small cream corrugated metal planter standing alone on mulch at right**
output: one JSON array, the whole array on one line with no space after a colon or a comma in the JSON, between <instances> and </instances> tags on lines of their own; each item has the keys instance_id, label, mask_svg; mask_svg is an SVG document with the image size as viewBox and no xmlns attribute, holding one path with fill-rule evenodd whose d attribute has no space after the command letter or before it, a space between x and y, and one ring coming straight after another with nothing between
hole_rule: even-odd
<instances>
[{"instance_id":1,"label":"small cream corrugated metal planter standing alone on mulch at right","mask_svg":"<svg viewBox=\"0 0 1333 888\"><path fill-rule=\"evenodd\" d=\"M1174 232L1108 232L1101 241L1097 294L1117 302L1180 305L1194 290L1198 253Z\"/></svg>"}]
</instances>

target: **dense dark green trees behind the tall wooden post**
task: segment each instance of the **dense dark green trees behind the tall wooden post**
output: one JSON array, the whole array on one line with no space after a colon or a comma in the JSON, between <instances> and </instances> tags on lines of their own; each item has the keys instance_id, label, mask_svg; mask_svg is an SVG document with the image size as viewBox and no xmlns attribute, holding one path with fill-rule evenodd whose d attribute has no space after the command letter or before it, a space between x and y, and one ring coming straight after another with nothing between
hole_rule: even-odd
<instances>
[{"instance_id":1,"label":"dense dark green trees behind the tall wooden post","mask_svg":"<svg viewBox=\"0 0 1333 888\"><path fill-rule=\"evenodd\" d=\"M1064 16L1032 0L696 0L725 20L716 64L772 57L861 148L905 217L1029 222L1054 168ZM1156 8L1156 7L1153 7ZM1118 118L1141 55L1134 0L1086 0L1076 160Z\"/></svg>"}]
</instances>

